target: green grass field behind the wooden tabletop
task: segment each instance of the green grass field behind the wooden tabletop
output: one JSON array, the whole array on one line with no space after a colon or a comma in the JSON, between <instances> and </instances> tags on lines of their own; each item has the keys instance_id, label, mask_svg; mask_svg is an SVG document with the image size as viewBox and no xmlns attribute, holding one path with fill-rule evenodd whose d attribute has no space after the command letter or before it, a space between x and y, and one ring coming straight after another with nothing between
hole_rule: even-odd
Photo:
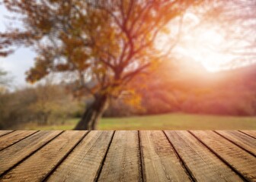
<instances>
[{"instance_id":1,"label":"green grass field behind the wooden tabletop","mask_svg":"<svg viewBox=\"0 0 256 182\"><path fill-rule=\"evenodd\" d=\"M26 130L72 130L78 118L62 125L23 127ZM167 114L102 118L98 130L256 130L256 117Z\"/></svg>"}]
</instances>

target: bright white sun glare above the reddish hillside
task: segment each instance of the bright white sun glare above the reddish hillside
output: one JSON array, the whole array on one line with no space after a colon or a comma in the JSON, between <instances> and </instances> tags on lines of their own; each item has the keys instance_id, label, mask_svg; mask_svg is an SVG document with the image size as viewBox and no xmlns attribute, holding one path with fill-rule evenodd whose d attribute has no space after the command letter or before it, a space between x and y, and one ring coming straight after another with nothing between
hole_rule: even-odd
<instances>
[{"instance_id":1,"label":"bright white sun glare above the reddish hillside","mask_svg":"<svg viewBox=\"0 0 256 182\"><path fill-rule=\"evenodd\" d=\"M184 25L178 45L176 45L171 55L184 55L193 61L199 61L206 71L216 72L225 69L225 64L232 60L232 55L225 52L219 52L226 40L222 36L224 30L216 30L209 26L200 26L196 30L191 29L191 24L197 24L198 18L194 14L186 14L184 17ZM189 24L189 25L187 25ZM177 25L176 25L177 26ZM174 24L169 24L168 29L172 30ZM186 30L187 29L187 30ZM175 34L175 33L174 33ZM168 45L173 42L175 37L168 33L161 33L158 36L155 45L161 52L168 50Z\"/></svg>"}]
</instances>

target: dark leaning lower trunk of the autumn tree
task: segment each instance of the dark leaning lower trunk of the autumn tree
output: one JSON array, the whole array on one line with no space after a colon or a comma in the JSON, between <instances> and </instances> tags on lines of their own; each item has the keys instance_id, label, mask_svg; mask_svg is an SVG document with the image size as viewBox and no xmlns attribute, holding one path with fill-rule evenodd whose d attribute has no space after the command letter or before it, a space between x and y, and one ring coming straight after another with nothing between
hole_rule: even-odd
<instances>
[{"instance_id":1,"label":"dark leaning lower trunk of the autumn tree","mask_svg":"<svg viewBox=\"0 0 256 182\"><path fill-rule=\"evenodd\" d=\"M101 118L104 110L107 108L108 96L98 96L94 102L89 105L82 119L75 126L74 130L96 130L98 119Z\"/></svg>"}]
</instances>

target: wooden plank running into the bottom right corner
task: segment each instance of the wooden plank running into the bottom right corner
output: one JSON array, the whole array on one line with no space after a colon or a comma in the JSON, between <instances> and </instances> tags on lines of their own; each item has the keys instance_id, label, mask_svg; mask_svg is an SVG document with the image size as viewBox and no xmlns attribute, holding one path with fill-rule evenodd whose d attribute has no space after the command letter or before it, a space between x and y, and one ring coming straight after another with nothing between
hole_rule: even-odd
<instances>
[{"instance_id":1,"label":"wooden plank running into the bottom right corner","mask_svg":"<svg viewBox=\"0 0 256 182\"><path fill-rule=\"evenodd\" d=\"M213 131L197 130L191 133L245 179L256 181L256 158L253 155Z\"/></svg>"}]
</instances>

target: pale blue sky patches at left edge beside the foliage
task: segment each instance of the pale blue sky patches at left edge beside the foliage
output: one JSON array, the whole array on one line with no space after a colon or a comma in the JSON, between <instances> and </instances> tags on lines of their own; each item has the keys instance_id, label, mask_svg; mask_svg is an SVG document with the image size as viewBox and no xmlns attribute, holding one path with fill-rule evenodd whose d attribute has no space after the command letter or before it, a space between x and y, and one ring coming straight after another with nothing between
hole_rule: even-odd
<instances>
[{"instance_id":1,"label":"pale blue sky patches at left edge beside the foliage","mask_svg":"<svg viewBox=\"0 0 256 182\"><path fill-rule=\"evenodd\" d=\"M5 31L8 20L5 16L8 11L0 5L0 32ZM25 72L34 64L35 53L30 49L19 48L14 54L7 58L0 57L0 67L8 72L9 77L13 78L14 86L25 86Z\"/></svg>"}]
</instances>

